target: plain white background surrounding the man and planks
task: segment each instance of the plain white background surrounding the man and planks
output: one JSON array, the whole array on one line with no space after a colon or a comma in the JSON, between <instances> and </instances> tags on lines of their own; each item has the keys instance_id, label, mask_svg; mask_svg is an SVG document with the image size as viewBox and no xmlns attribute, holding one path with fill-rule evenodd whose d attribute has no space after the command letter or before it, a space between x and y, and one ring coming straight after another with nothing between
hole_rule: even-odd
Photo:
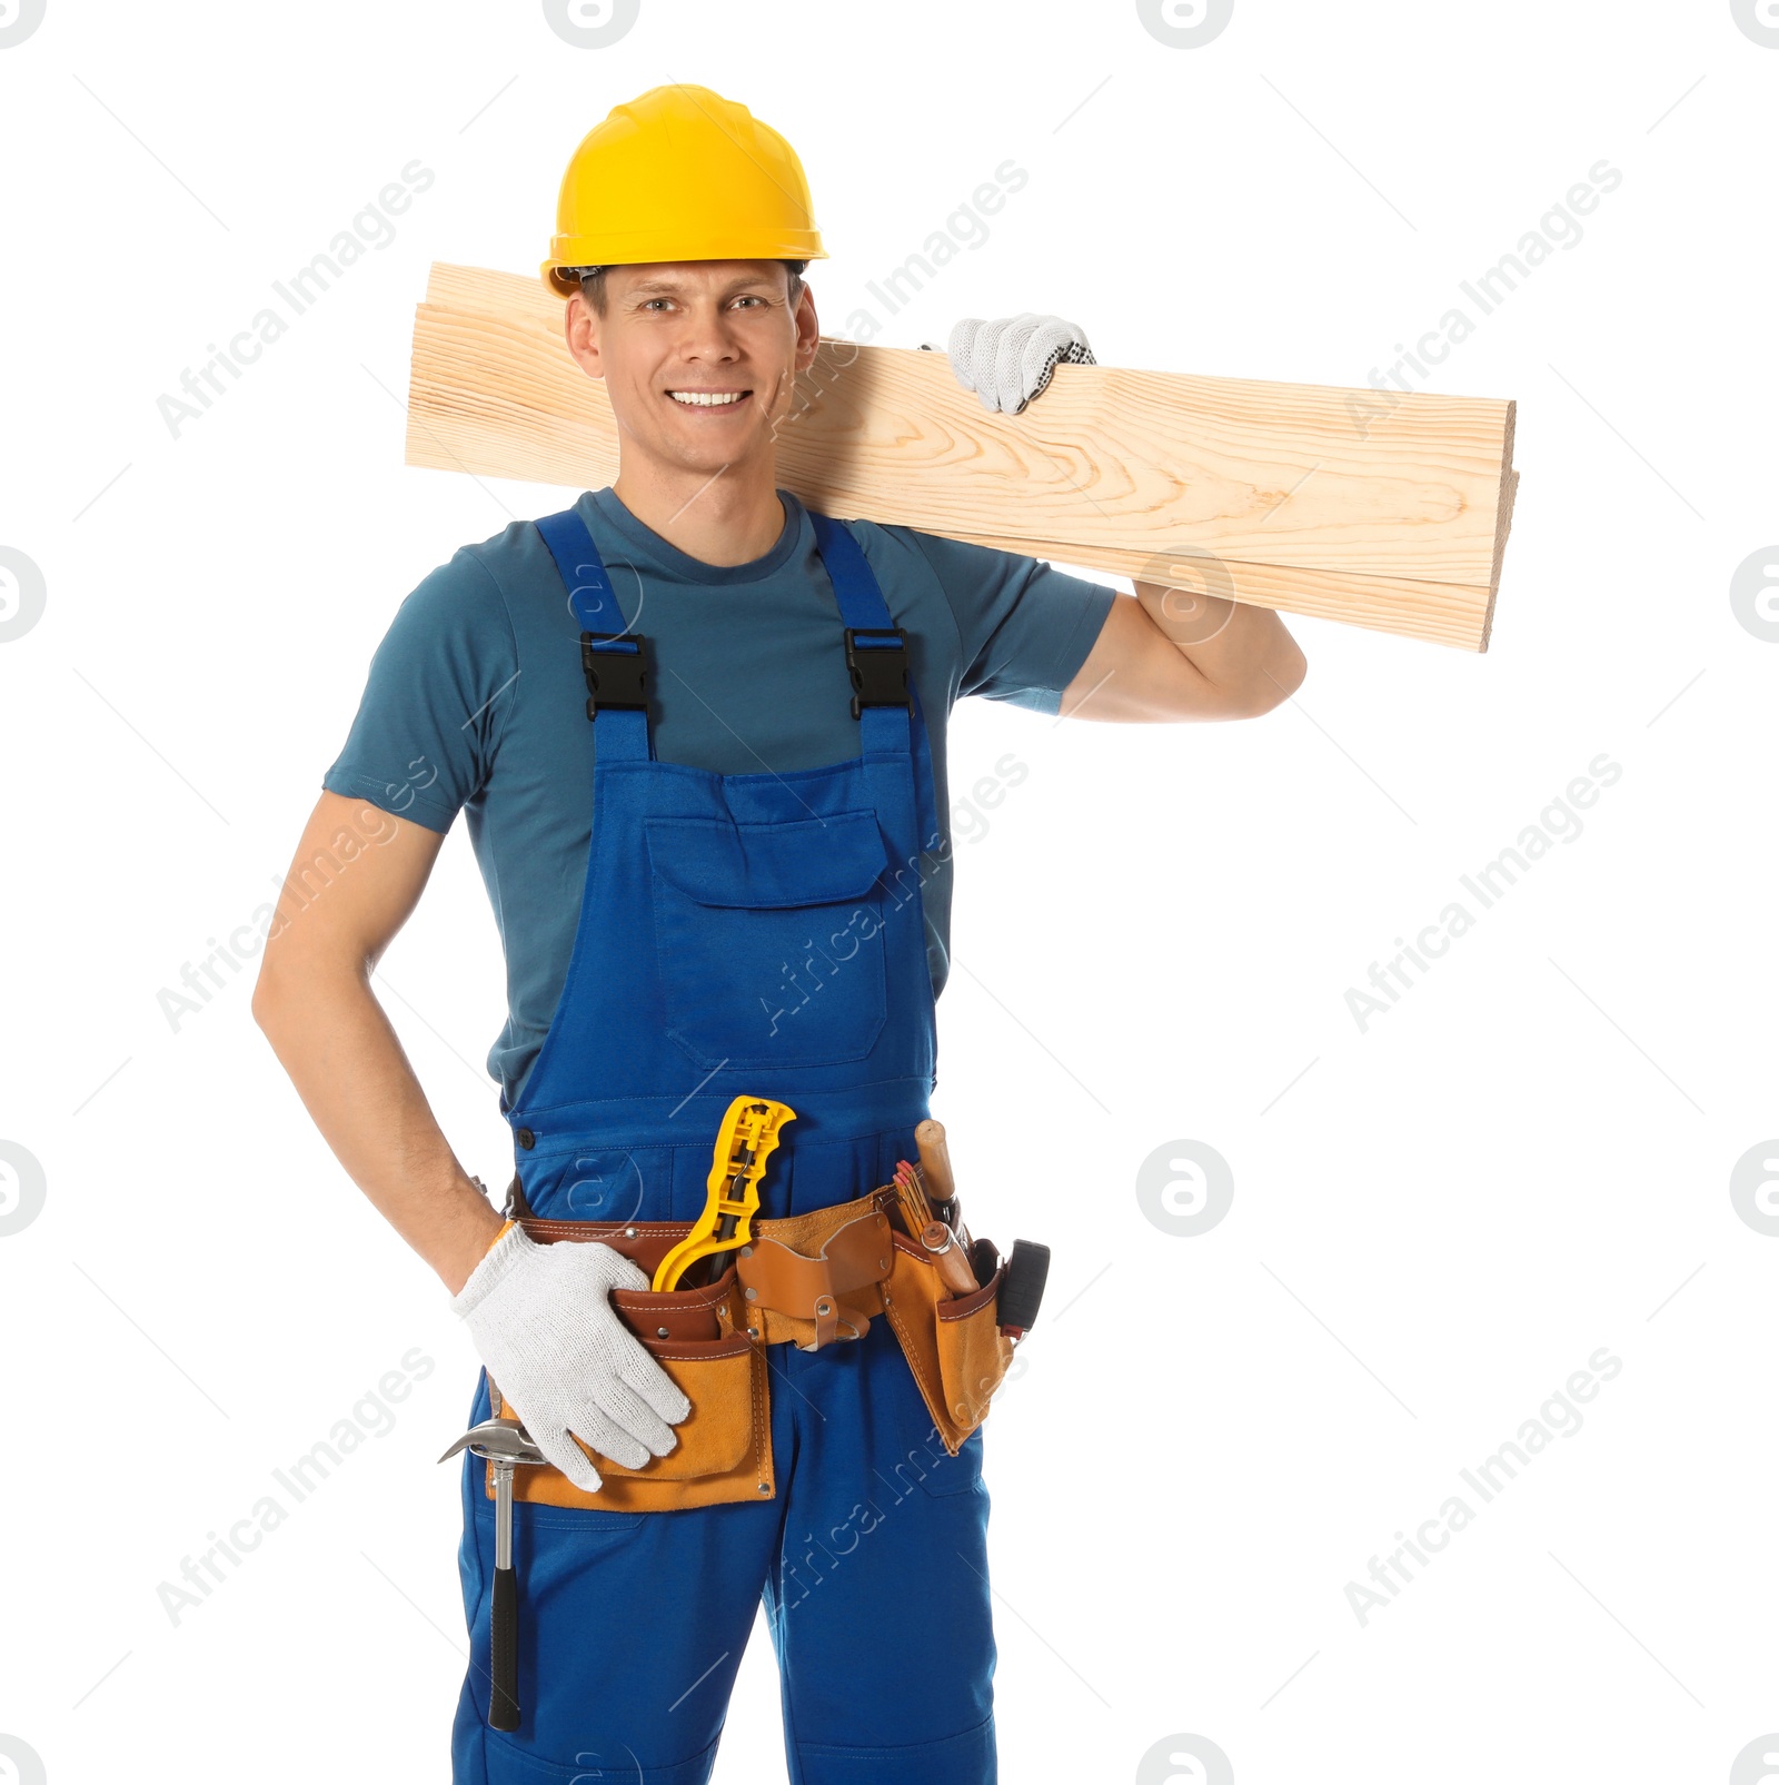
<instances>
[{"instance_id":1,"label":"plain white background surrounding the man and planks","mask_svg":"<svg viewBox=\"0 0 1779 1785\"><path fill-rule=\"evenodd\" d=\"M608 48L535 4L48 0L0 48L0 546L46 589L0 643L0 1141L46 1182L0 1237L0 1735L41 1760L0 1778L446 1778L475 1357L248 975L177 1032L157 994L282 875L400 598L566 500L403 468L428 262L535 268L575 143L664 80L799 150L826 332L1030 171L901 346L1053 311L1105 364L1363 386L1622 173L1413 380L1518 402L1486 655L1292 621L1260 721L956 712L960 796L1030 775L958 851L935 1114L978 1228L1056 1251L987 1435L1003 1778L1731 1778L1779 1728L1779 1241L1729 1189L1779 1133L1779 644L1729 596L1779 537L1779 48L1724 0L1237 0L1199 46L1131 4L644 0ZM394 243L175 439L157 398L416 157ZM1347 989L1601 753L1583 832L1361 1032ZM460 825L376 984L503 1183ZM1235 1182L1192 1239L1138 1196L1178 1141ZM1602 1346L1581 1430L1361 1626L1347 1583ZM170 1623L410 1348L394 1430ZM762 1628L717 1778L782 1767Z\"/></svg>"}]
</instances>

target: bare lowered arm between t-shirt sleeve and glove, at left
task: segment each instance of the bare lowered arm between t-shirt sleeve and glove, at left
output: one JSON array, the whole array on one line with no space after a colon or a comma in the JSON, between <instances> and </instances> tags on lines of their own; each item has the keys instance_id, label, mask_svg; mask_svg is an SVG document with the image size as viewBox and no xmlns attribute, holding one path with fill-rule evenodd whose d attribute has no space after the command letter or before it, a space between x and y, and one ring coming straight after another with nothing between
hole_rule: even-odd
<instances>
[{"instance_id":1,"label":"bare lowered arm between t-shirt sleeve and glove, at left","mask_svg":"<svg viewBox=\"0 0 1779 1785\"><path fill-rule=\"evenodd\" d=\"M362 800L337 793L316 801L266 941L253 1021L346 1175L455 1296L501 1219L451 1153L371 992L371 971L419 903L444 832L371 809L380 841L319 892L291 891L343 830L362 835L364 812Z\"/></svg>"}]
</instances>

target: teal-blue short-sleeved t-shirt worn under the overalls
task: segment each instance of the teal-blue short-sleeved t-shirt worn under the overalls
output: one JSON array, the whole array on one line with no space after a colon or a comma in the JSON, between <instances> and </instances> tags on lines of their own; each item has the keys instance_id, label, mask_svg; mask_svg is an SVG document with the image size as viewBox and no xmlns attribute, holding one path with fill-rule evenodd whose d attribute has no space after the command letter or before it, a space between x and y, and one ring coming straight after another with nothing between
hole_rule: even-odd
<instances>
[{"instance_id":1,"label":"teal-blue short-sleeved t-shirt worn under the overalls","mask_svg":"<svg viewBox=\"0 0 1779 1785\"><path fill-rule=\"evenodd\" d=\"M803 503L751 564L705 564L610 489L576 502L625 623L650 643L655 755L721 775L858 755L842 621ZM951 932L946 719L960 694L1056 712L1112 609L1105 584L908 527L848 521L908 635L946 846L923 860L933 996ZM616 628L614 628L616 630ZM507 1025L487 1057L509 1103L567 980L592 837L592 734L580 625L542 537L514 521L464 546L401 603L346 748L321 778L428 830L459 809L507 957Z\"/></svg>"}]
</instances>

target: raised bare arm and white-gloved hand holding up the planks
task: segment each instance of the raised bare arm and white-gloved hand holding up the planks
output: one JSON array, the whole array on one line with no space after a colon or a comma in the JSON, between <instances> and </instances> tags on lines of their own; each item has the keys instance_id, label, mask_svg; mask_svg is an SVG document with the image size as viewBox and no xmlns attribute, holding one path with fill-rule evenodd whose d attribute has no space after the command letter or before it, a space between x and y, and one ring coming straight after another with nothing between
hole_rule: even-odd
<instances>
[{"instance_id":1,"label":"raised bare arm and white-gloved hand holding up the planks","mask_svg":"<svg viewBox=\"0 0 1779 1785\"><path fill-rule=\"evenodd\" d=\"M951 369L981 405L1019 414L1058 364L1094 364L1087 336L1060 316L981 321L951 330ZM1278 614L1228 596L1137 582L1119 594L1074 680L1062 718L1122 723L1253 719L1303 684L1306 662Z\"/></svg>"}]
</instances>

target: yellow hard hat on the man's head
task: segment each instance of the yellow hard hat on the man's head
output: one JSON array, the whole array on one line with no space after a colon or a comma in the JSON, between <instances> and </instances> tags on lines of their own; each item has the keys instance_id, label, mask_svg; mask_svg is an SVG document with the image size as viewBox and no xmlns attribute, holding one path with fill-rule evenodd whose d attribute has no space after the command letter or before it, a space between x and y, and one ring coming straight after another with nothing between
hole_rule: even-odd
<instances>
[{"instance_id":1,"label":"yellow hard hat on the man's head","mask_svg":"<svg viewBox=\"0 0 1779 1785\"><path fill-rule=\"evenodd\" d=\"M614 105L582 137L542 275L569 296L566 266L826 259L796 150L746 105L674 84Z\"/></svg>"}]
</instances>

